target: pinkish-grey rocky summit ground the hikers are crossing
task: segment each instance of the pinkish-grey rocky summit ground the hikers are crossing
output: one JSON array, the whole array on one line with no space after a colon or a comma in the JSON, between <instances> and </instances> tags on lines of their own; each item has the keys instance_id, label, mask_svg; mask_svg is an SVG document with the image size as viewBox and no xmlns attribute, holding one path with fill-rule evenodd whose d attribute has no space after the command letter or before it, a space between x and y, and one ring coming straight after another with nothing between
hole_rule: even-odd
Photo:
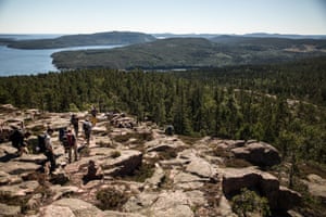
<instances>
[{"instance_id":1,"label":"pinkish-grey rocky summit ground the hikers are crossing","mask_svg":"<svg viewBox=\"0 0 326 217\"><path fill-rule=\"evenodd\" d=\"M299 205L301 195L281 186L272 169L280 156L267 143L167 136L153 123L99 113L86 145L80 129L89 114L76 115L78 157L70 163L59 141L59 129L70 126L70 113L1 105L1 216L228 217L237 216L231 199L243 188L266 197L273 212L299 215L291 208ZM28 153L18 156L9 136L22 122L32 137ZM37 136L47 127L54 129L57 169L52 175L47 173L47 157L36 149ZM315 186L322 182L313 176L311 180Z\"/></svg>"}]
</instances>

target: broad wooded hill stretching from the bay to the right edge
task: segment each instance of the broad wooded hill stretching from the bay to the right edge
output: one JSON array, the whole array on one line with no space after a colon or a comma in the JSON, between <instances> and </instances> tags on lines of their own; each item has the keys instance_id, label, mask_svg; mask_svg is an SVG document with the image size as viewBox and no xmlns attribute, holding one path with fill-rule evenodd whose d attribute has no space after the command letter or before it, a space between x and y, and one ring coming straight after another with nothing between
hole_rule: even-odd
<instances>
[{"instance_id":1,"label":"broad wooded hill stretching from the bay to the right edge","mask_svg":"<svg viewBox=\"0 0 326 217\"><path fill-rule=\"evenodd\" d=\"M326 40L218 36L168 38L112 50L64 51L52 55L59 68L199 68L286 62L326 55Z\"/></svg>"}]
</instances>

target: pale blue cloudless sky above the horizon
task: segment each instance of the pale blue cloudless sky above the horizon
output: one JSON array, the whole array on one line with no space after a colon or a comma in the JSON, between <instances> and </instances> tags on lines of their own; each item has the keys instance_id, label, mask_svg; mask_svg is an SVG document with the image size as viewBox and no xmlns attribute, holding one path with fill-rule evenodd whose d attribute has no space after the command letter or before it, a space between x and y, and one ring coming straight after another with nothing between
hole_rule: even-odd
<instances>
[{"instance_id":1,"label":"pale blue cloudless sky above the horizon","mask_svg":"<svg viewBox=\"0 0 326 217\"><path fill-rule=\"evenodd\" d=\"M326 35L326 0L0 0L0 34Z\"/></svg>"}]
</instances>

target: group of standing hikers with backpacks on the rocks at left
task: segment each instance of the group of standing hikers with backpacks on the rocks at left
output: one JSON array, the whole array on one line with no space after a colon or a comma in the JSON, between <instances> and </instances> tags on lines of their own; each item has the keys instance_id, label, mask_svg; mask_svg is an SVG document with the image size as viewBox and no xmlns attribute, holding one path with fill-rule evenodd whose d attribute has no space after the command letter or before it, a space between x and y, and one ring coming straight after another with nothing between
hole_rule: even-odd
<instances>
[{"instance_id":1,"label":"group of standing hikers with backpacks on the rocks at left","mask_svg":"<svg viewBox=\"0 0 326 217\"><path fill-rule=\"evenodd\" d=\"M91 129L96 125L97 120L97 111L93 106L90 112L91 120L89 120L89 117L87 116L85 122L83 123L83 131L85 136L86 146L89 146L90 143L90 137L91 137ZM74 129L74 130L72 130ZM38 136L38 145L37 151L39 153L43 153L47 156L47 161L45 162L45 165L49 164L49 173L52 174L55 168L55 154L53 152L53 145L52 145L52 136L54 130L48 126L46 131L42 135ZM59 140L61 144L65 149L65 153L68 153L68 162L71 163L73 159L78 161L78 153L77 153L77 146L78 146L78 133L79 133L79 118L76 114L72 114L70 119L70 125L67 127L61 128L59 130ZM21 122L18 124L18 127L16 127L11 137L10 140L12 142L12 145L17 149L16 155L22 156L23 153L28 153L27 149L27 138L30 136L30 132L28 132L25 129L24 123Z\"/></svg>"}]
</instances>

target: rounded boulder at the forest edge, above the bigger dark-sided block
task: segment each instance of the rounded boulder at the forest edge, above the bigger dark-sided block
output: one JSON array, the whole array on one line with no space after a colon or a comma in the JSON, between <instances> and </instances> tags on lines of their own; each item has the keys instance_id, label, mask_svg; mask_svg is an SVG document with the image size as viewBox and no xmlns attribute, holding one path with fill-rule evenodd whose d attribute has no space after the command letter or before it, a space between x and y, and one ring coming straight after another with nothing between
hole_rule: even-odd
<instances>
[{"instance_id":1,"label":"rounded boulder at the forest edge, above the bigger dark-sided block","mask_svg":"<svg viewBox=\"0 0 326 217\"><path fill-rule=\"evenodd\" d=\"M231 153L258 166L274 166L280 163L278 151L265 142L247 143L231 149Z\"/></svg>"}]
</instances>

